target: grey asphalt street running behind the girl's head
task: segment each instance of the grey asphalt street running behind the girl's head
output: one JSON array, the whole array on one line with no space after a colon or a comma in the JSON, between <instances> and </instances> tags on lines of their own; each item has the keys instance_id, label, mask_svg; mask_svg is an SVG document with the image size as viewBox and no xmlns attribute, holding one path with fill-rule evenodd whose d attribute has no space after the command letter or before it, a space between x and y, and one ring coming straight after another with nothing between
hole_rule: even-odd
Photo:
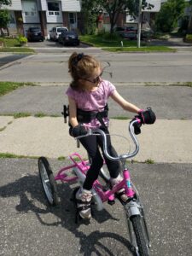
<instances>
[{"instance_id":1,"label":"grey asphalt street running behind the girl's head","mask_svg":"<svg viewBox=\"0 0 192 256\"><path fill-rule=\"evenodd\" d=\"M2 81L41 82L49 84L68 84L71 81L67 61L72 52L77 49L60 53L29 55L9 65L0 68ZM91 53L86 49L85 53ZM82 52L83 49L78 49ZM107 67L103 73L104 79L114 84L150 84L150 83L183 83L192 81L192 52L151 53L151 54L116 54L95 49L97 59L102 66ZM1 55L3 56L3 55ZM4 54L6 56L6 54ZM108 67L108 63L110 67Z\"/></svg>"}]
</instances>

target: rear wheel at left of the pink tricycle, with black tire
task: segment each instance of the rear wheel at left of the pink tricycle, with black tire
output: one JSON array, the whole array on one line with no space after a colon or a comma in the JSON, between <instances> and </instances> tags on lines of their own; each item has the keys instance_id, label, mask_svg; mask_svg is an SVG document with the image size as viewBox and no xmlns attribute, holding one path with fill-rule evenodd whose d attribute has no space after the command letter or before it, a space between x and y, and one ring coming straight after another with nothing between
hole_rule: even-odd
<instances>
[{"instance_id":1,"label":"rear wheel at left of the pink tricycle, with black tire","mask_svg":"<svg viewBox=\"0 0 192 256\"><path fill-rule=\"evenodd\" d=\"M49 162L45 157L38 159L39 177L44 189L44 195L50 206L59 204L59 196L57 194L55 178L49 166Z\"/></svg>"}]
</instances>

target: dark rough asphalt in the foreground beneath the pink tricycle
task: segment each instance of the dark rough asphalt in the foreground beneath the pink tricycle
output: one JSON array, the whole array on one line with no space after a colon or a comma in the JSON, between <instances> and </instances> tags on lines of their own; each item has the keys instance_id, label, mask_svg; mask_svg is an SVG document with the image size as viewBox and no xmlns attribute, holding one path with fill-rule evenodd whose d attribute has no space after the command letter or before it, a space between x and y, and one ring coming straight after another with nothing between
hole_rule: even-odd
<instances>
[{"instance_id":1,"label":"dark rough asphalt in the foreground beneath the pink tricycle","mask_svg":"<svg viewBox=\"0 0 192 256\"><path fill-rule=\"evenodd\" d=\"M64 164L49 160L56 172ZM65 161L66 164L66 161ZM191 166L131 164L144 202L151 255L189 256L192 250ZM57 183L61 204L50 208L38 177L37 160L2 159L0 180L3 256L132 255L123 208L116 201L95 212L89 225L75 224L75 185Z\"/></svg>"}]
</instances>

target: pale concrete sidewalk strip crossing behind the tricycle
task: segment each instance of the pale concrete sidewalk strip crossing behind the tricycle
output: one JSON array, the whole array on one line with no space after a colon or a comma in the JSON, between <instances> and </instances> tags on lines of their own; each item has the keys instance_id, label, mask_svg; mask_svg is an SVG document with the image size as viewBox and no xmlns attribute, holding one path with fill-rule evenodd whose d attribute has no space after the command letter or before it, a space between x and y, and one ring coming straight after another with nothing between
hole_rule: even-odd
<instances>
[{"instance_id":1,"label":"pale concrete sidewalk strip crossing behind the tricycle","mask_svg":"<svg viewBox=\"0 0 192 256\"><path fill-rule=\"evenodd\" d=\"M128 121L111 119L111 134L128 137ZM192 120L158 119L154 125L143 125L142 133L137 136L140 151L134 160L166 163L190 163L192 161ZM73 137L68 135L68 125L61 117L14 119L0 117L0 153L49 158L67 157L79 152L86 157L81 146L76 147ZM112 137L113 145L119 154L129 150L125 138ZM131 148L134 146L131 144Z\"/></svg>"}]
</instances>

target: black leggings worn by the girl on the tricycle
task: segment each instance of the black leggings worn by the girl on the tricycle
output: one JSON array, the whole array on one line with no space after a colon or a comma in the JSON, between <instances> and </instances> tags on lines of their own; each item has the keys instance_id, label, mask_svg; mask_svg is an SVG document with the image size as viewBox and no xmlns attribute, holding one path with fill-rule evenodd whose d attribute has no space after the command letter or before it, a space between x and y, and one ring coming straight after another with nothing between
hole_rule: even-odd
<instances>
[{"instance_id":1,"label":"black leggings worn by the girl on the tricycle","mask_svg":"<svg viewBox=\"0 0 192 256\"><path fill-rule=\"evenodd\" d=\"M108 130L105 131L108 134ZM89 171L87 172L87 176L84 180L84 189L92 189L93 183L96 181L100 169L103 165L103 147L102 147L102 137L101 136L89 136L89 137L83 137L80 140L80 143L84 146L84 148L87 150L87 153L90 156L91 160L91 166ZM107 136L107 142L108 142L108 153L112 156L117 156L112 144L111 144L111 138L108 135ZM102 154L100 153L99 147L102 148ZM108 158L103 154L103 157L105 159L106 165L108 166L108 171L110 173L110 177L118 177L119 175L119 161L112 161L108 160Z\"/></svg>"}]
</instances>

